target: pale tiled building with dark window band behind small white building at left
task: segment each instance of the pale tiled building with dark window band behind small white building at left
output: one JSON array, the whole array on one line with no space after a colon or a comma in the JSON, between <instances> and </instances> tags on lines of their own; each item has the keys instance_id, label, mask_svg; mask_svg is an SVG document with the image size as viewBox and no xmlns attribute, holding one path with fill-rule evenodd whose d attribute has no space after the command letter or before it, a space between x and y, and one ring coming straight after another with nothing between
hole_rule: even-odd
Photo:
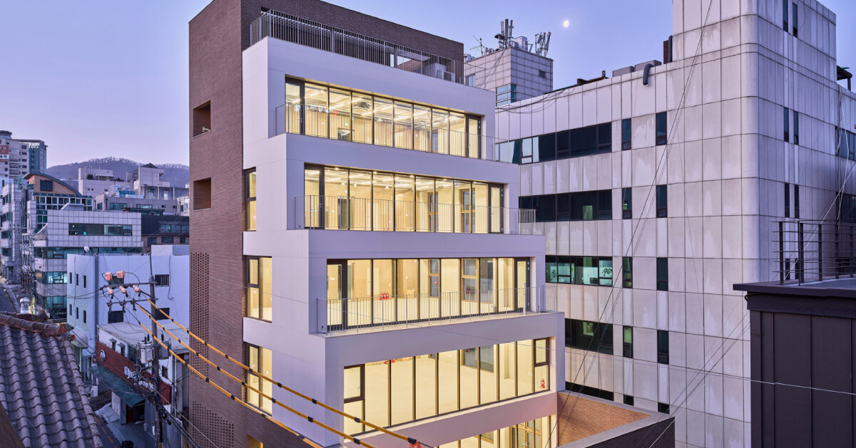
<instances>
[{"instance_id":1,"label":"pale tiled building with dark window band behind small white building at left","mask_svg":"<svg viewBox=\"0 0 856 448\"><path fill-rule=\"evenodd\" d=\"M29 226L33 228L32 223ZM47 309L52 319L65 321L68 255L140 253L140 214L87 211L79 204L68 204L46 211L45 223L25 239L29 245L21 249L24 274L32 269L37 304Z\"/></svg>"}]
</instances>

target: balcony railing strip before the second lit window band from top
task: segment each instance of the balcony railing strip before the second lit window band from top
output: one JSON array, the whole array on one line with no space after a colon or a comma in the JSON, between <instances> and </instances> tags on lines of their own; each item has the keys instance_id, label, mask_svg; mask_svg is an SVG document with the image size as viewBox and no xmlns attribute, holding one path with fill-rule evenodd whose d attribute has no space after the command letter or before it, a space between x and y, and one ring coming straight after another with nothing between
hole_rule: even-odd
<instances>
[{"instance_id":1,"label":"balcony railing strip before the second lit window band from top","mask_svg":"<svg viewBox=\"0 0 856 448\"><path fill-rule=\"evenodd\" d=\"M535 234L535 210L366 197L294 197L294 228Z\"/></svg>"}]
</instances>

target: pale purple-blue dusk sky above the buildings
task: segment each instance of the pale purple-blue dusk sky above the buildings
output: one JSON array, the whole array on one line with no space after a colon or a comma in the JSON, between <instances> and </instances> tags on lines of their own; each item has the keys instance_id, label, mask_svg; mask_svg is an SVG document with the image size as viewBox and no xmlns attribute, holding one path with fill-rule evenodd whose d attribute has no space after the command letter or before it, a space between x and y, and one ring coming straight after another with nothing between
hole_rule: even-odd
<instances>
[{"instance_id":1,"label":"pale purple-blue dusk sky above the buildings","mask_svg":"<svg viewBox=\"0 0 856 448\"><path fill-rule=\"evenodd\" d=\"M0 0L0 129L45 140L51 166L102 156L187 163L187 22L207 3ZM515 36L550 31L556 88L662 59L671 33L668 0L331 3L460 41L474 55L476 38L496 45L502 19L514 20ZM856 2L822 3L837 14L839 65L856 68Z\"/></svg>"}]
</instances>

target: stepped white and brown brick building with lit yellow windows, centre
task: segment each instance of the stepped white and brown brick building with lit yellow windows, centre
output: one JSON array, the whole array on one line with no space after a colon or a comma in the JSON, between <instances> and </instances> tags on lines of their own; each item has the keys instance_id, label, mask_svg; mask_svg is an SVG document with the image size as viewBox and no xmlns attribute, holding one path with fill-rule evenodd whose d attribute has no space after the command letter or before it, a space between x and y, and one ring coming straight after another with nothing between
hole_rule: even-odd
<instances>
[{"instance_id":1,"label":"stepped white and brown brick building with lit yellow windows, centre","mask_svg":"<svg viewBox=\"0 0 856 448\"><path fill-rule=\"evenodd\" d=\"M544 302L544 239L521 234L518 167L484 160L495 94L463 84L462 56L313 0L215 0L193 18L191 330L428 445L556 446L564 320ZM405 443L194 349L366 443ZM232 398L344 442L194 366L234 395L191 380L200 444L302 445Z\"/></svg>"}]
</instances>

